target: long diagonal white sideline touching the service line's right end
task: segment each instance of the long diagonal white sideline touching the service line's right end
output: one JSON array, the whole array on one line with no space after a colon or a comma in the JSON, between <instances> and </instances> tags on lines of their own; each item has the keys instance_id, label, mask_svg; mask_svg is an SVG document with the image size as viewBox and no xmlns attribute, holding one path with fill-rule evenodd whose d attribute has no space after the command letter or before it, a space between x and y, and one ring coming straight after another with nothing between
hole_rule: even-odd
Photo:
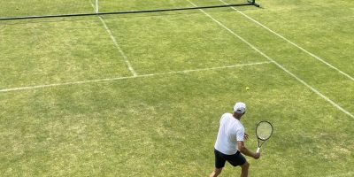
<instances>
[{"instance_id":1,"label":"long diagonal white sideline touching the service line's right end","mask_svg":"<svg viewBox=\"0 0 354 177\"><path fill-rule=\"evenodd\" d=\"M196 6L196 4L193 4L192 2L188 1L190 4ZM240 35L235 34L234 31L232 31L230 28L226 27L224 24L222 24L221 22L219 22L219 20L214 19L209 13L204 12L204 10L199 9L200 12L203 12L207 17L209 17L210 19L212 19L213 21L215 21L216 23L219 24L220 27L225 28L228 32L230 32L232 35L235 35L237 38L239 38L242 42L245 42L247 45L250 46L250 48L252 48L253 50L256 50L260 55L262 55L263 57L267 58L269 61L273 62L273 64L277 65L278 67L280 67L284 72L289 73L289 75L291 75L293 78L295 78L297 81L300 81L302 84L304 84L304 86L306 86L307 88L311 89L314 93L316 93L317 95L321 96L323 99L325 99L327 102L329 102L330 104L334 105L336 108L338 108L340 111L344 112L345 114L349 115L351 118L354 118L354 115L348 111L346 111L344 108L342 108L340 105L335 104L334 101L332 101L331 99L329 99L327 96L321 94L317 89L312 88L312 86L310 86L308 83L306 83L305 81L301 80L300 78L298 78L294 73L289 72L288 69L286 69L285 67L283 67L282 65L280 65L278 62L276 62L273 58L270 58L269 56L267 56L265 53L263 53L261 50L258 50L258 48L256 48L254 45L252 45L250 42L246 41L245 39L243 39Z\"/></svg>"}]
</instances>

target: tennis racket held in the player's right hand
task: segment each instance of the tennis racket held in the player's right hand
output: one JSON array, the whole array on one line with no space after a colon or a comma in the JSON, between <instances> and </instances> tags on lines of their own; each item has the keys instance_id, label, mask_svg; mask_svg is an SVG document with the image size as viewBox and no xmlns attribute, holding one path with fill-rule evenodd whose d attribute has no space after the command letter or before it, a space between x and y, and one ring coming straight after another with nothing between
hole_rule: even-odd
<instances>
[{"instance_id":1,"label":"tennis racket held in the player's right hand","mask_svg":"<svg viewBox=\"0 0 354 177\"><path fill-rule=\"evenodd\" d=\"M266 142L273 134L273 126L268 121L260 121L256 127L256 135L258 138L258 149L257 153L260 151L260 147Z\"/></svg>"}]
</instances>

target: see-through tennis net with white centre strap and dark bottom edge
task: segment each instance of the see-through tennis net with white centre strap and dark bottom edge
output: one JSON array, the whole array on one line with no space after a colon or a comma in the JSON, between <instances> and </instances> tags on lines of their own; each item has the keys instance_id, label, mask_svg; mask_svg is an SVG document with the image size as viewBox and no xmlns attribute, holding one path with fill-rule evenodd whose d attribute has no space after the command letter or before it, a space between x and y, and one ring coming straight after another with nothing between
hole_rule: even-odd
<instances>
[{"instance_id":1,"label":"see-through tennis net with white centre strap and dark bottom edge","mask_svg":"<svg viewBox=\"0 0 354 177\"><path fill-rule=\"evenodd\" d=\"M255 0L6 0L0 20L168 12L256 5Z\"/></svg>"}]
</instances>

